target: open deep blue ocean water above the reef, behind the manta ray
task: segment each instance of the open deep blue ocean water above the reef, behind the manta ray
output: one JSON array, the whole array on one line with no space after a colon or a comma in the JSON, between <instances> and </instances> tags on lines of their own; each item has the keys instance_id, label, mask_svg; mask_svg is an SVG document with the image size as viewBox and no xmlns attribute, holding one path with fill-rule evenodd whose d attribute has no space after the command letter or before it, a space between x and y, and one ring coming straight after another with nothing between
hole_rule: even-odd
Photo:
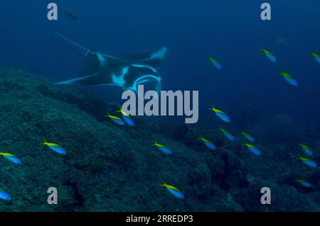
<instances>
[{"instance_id":1,"label":"open deep blue ocean water above the reef, behind the manta ray","mask_svg":"<svg viewBox=\"0 0 320 226\"><path fill-rule=\"evenodd\" d=\"M194 127L248 130L269 145L278 138L284 143L292 137L294 142L319 140L320 64L310 55L320 52L319 1L270 0L271 21L261 20L265 1L256 0L53 1L58 21L46 18L49 1L1 1L0 67L52 81L77 77L85 51L54 32L114 56L167 47L158 69L161 88L199 91L200 117ZM65 16L68 7L76 21ZM277 62L268 60L262 48ZM279 75L283 70L294 76L297 87ZM112 100L121 96L112 87L89 89ZM208 111L211 103L228 113L229 125ZM294 135L281 137L285 131Z\"/></svg>"}]
</instances>

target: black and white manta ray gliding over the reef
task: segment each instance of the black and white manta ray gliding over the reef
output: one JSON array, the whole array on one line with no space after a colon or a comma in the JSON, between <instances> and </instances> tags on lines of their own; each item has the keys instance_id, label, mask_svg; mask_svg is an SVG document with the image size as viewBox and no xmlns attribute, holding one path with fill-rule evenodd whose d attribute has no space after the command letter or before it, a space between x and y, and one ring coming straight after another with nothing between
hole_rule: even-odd
<instances>
[{"instance_id":1,"label":"black and white manta ray gliding over the reef","mask_svg":"<svg viewBox=\"0 0 320 226\"><path fill-rule=\"evenodd\" d=\"M155 81L155 91L161 90L161 77L156 67L166 54L166 47L153 53L113 57L96 52L65 38L69 43L86 51L84 64L79 77L56 84L75 84L79 86L119 86L125 90L137 91L139 84Z\"/></svg>"}]
</instances>

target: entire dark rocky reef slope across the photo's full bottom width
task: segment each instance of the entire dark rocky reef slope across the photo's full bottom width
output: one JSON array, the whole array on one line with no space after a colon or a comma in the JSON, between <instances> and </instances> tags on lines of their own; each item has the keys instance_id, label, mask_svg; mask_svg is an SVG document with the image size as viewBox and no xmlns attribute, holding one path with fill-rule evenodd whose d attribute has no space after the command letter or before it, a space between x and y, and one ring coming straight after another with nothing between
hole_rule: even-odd
<instances>
[{"instance_id":1,"label":"entire dark rocky reef slope across the photo's full bottom width","mask_svg":"<svg viewBox=\"0 0 320 226\"><path fill-rule=\"evenodd\" d=\"M241 143L217 142L211 152L200 134L159 118L134 118L134 128L104 117L108 105L95 94L12 69L0 70L0 188L11 201L0 211L257 211L320 210L319 171L297 162L290 145L264 146L252 156ZM41 145L60 144L60 155ZM174 152L164 155L157 141ZM314 181L308 190L295 179ZM179 200L160 183L185 194ZM260 189L272 189L272 205L260 203ZM58 188L58 205L48 205L47 189Z\"/></svg>"}]
</instances>

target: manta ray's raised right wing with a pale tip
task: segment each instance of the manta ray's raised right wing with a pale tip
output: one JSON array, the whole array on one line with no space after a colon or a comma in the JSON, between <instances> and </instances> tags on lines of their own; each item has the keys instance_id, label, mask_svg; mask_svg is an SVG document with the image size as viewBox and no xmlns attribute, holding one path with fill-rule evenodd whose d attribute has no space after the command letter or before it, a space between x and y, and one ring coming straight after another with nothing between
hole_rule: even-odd
<instances>
[{"instance_id":1,"label":"manta ray's raised right wing with a pale tip","mask_svg":"<svg viewBox=\"0 0 320 226\"><path fill-rule=\"evenodd\" d=\"M158 67L159 64L164 60L166 55L166 47L161 48L161 50L151 53L127 55L121 57L122 59L128 60L135 64L144 64L149 67Z\"/></svg>"}]
</instances>

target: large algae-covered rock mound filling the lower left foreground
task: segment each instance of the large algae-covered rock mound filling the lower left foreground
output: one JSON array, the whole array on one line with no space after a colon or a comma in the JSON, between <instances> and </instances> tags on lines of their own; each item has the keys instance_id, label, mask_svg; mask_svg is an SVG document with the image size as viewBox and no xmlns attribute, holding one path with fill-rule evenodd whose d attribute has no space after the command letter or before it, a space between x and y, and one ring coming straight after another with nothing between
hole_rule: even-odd
<instances>
[{"instance_id":1,"label":"large algae-covered rock mound filling the lower left foreground","mask_svg":"<svg viewBox=\"0 0 320 226\"><path fill-rule=\"evenodd\" d=\"M188 186L189 171L202 162L196 152L146 127L112 124L104 118L107 104L99 96L11 69L0 71L0 96L1 151L23 162L0 158L0 188L12 196L9 202L0 200L0 211L205 208ZM67 154L41 145L43 137ZM151 147L154 140L174 154ZM192 207L159 186L163 181L180 188ZM58 189L58 205L47 203L50 187Z\"/></svg>"}]
</instances>

